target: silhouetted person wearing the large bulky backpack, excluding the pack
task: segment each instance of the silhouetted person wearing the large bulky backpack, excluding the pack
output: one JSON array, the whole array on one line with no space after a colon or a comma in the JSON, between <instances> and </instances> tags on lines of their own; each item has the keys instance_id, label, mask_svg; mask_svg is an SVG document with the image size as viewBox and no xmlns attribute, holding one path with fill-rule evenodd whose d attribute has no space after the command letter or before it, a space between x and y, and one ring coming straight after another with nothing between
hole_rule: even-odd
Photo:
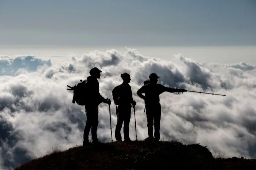
<instances>
[{"instance_id":1,"label":"silhouetted person wearing the large bulky backpack, excluding the pack","mask_svg":"<svg viewBox=\"0 0 256 170\"><path fill-rule=\"evenodd\" d=\"M98 116L98 105L100 103L111 104L111 100L107 100L103 98L103 96L99 93L99 82L97 79L101 76L101 70L97 67L94 67L90 70L90 76L87 77L87 81L89 83L89 94L85 94L90 99L85 106L86 109L86 126L84 127L83 134L83 145L87 145L89 143L89 132L91 129L91 136L93 139L93 143L100 143L97 138L97 127L99 124Z\"/></svg>"}]
</instances>

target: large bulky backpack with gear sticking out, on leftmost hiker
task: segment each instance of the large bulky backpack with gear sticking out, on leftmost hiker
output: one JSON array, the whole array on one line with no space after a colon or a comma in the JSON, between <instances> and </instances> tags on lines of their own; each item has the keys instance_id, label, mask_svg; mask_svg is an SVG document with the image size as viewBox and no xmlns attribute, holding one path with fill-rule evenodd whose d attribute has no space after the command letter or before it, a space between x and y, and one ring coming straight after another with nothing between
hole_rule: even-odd
<instances>
[{"instance_id":1,"label":"large bulky backpack with gear sticking out, on leftmost hiker","mask_svg":"<svg viewBox=\"0 0 256 170\"><path fill-rule=\"evenodd\" d=\"M86 93L88 90L89 83L87 80L80 80L80 83L76 84L73 87L68 86L70 89L73 90L73 100L72 103L77 103L80 106L85 106L87 104L88 97L86 97Z\"/></svg>"}]
</instances>

